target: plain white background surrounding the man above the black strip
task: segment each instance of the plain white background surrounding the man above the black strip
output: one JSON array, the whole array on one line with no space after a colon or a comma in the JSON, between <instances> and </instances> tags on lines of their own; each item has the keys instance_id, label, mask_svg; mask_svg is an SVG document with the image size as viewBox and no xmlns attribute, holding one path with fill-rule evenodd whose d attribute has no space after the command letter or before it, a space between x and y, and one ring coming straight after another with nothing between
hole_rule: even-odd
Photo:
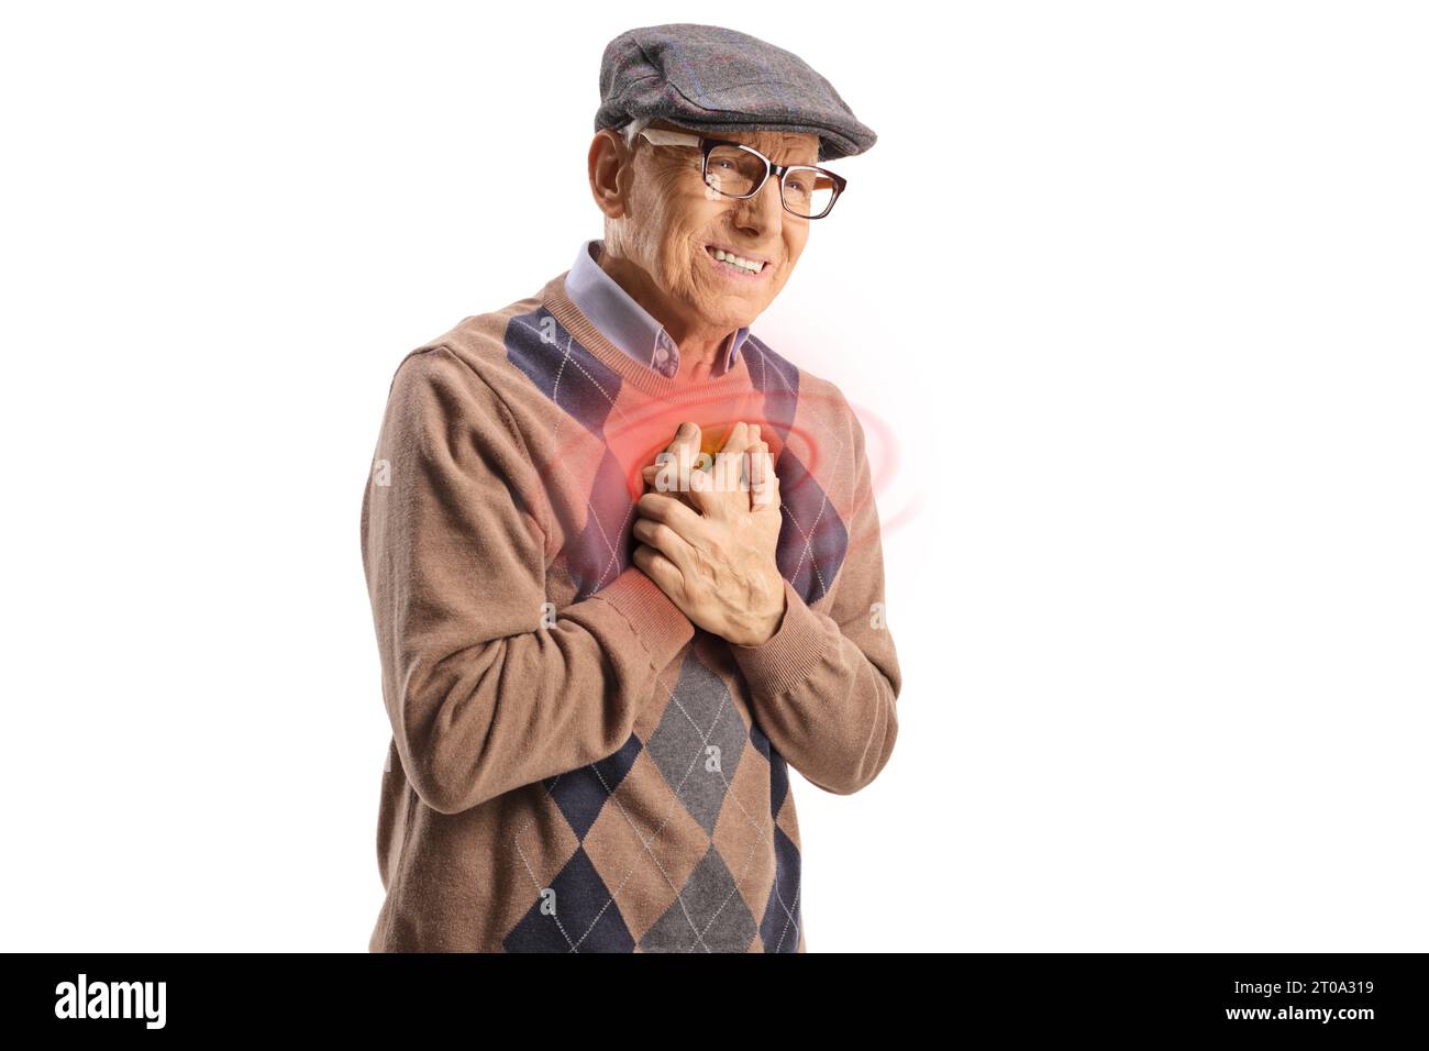
<instances>
[{"instance_id":1,"label":"plain white background surrounding the man above the black strip","mask_svg":"<svg viewBox=\"0 0 1429 1051\"><path fill-rule=\"evenodd\" d=\"M879 133L756 323L896 439L810 951L1429 948L1423 7L810 10L6 7L4 949L366 951L392 372L600 236L682 20Z\"/></svg>"}]
</instances>

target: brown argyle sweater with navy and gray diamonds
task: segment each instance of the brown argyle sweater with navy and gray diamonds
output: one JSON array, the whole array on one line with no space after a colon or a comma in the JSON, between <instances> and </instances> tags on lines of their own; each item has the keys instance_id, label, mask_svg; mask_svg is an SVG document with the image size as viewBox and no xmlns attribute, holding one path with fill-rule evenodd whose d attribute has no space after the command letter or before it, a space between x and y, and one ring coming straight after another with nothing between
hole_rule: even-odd
<instances>
[{"instance_id":1,"label":"brown argyle sweater with navy and gray diamonds","mask_svg":"<svg viewBox=\"0 0 1429 1051\"><path fill-rule=\"evenodd\" d=\"M803 952L789 766L887 764L900 672L863 429L750 335L704 380L632 360L552 279L409 352L362 505L392 741L370 951ZM632 561L679 423L760 423L786 612L696 628Z\"/></svg>"}]
</instances>

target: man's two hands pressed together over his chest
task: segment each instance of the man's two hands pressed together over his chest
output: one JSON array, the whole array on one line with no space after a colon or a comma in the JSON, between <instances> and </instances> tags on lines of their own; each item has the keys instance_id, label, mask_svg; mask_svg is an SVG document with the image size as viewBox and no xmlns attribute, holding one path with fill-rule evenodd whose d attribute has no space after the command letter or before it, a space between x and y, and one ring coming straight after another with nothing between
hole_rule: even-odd
<instances>
[{"instance_id":1,"label":"man's two hands pressed together over his chest","mask_svg":"<svg viewBox=\"0 0 1429 1051\"><path fill-rule=\"evenodd\" d=\"M670 450L682 443L697 453L696 425L682 425ZM636 503L634 563L699 628L735 645L762 645L783 621L785 578L775 561L779 476L759 425L736 423L713 470L689 473L687 492L647 492Z\"/></svg>"}]
</instances>

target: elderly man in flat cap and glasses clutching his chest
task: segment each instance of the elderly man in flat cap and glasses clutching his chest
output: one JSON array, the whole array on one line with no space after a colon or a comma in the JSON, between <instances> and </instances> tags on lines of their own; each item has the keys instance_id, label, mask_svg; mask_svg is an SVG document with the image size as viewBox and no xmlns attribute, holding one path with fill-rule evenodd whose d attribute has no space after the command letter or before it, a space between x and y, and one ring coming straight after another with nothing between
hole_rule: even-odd
<instances>
[{"instance_id":1,"label":"elderly man in flat cap and glasses clutching his chest","mask_svg":"<svg viewBox=\"0 0 1429 1051\"><path fill-rule=\"evenodd\" d=\"M875 134L712 26L600 86L604 237L392 382L372 951L806 951L789 766L856 792L897 736L863 430L749 327Z\"/></svg>"}]
</instances>

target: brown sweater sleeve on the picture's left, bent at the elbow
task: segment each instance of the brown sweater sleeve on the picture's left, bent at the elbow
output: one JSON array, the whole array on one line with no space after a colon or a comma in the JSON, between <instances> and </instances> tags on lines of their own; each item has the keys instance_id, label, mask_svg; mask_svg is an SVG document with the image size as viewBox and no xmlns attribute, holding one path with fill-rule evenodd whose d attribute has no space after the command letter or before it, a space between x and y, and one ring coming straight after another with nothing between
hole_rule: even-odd
<instances>
[{"instance_id":1,"label":"brown sweater sleeve on the picture's left, bent at the elbow","mask_svg":"<svg viewBox=\"0 0 1429 1051\"><path fill-rule=\"evenodd\" d=\"M633 565L544 606L549 503L506 403L449 347L409 355L373 466L363 568L420 799L457 814L617 752L694 626Z\"/></svg>"}]
</instances>

